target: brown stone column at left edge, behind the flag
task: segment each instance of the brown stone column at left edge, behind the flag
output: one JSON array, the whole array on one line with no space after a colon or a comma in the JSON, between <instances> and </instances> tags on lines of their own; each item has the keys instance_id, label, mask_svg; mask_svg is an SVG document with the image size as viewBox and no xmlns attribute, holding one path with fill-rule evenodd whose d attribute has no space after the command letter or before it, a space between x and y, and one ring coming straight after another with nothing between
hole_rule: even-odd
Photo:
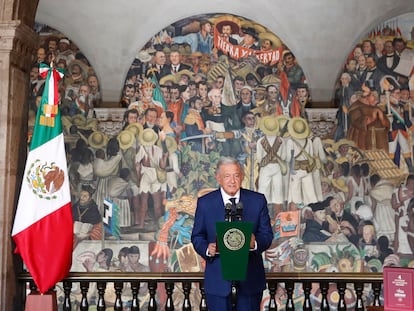
<instances>
[{"instance_id":1,"label":"brown stone column at left edge, behind the flag","mask_svg":"<svg viewBox=\"0 0 414 311\"><path fill-rule=\"evenodd\" d=\"M37 43L31 27L0 19L0 311L22 309L11 230L27 156L29 70Z\"/></svg>"}]
</instances>

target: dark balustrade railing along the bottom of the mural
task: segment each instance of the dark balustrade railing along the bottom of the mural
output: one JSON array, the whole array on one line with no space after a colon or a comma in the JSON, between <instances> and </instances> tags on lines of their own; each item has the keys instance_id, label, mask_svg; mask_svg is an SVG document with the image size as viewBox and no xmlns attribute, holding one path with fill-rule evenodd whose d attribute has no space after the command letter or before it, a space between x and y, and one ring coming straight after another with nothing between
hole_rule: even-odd
<instances>
[{"instance_id":1,"label":"dark balustrade railing along the bottom of the mural","mask_svg":"<svg viewBox=\"0 0 414 311\"><path fill-rule=\"evenodd\" d=\"M302 297L300 299L301 310L356 310L362 311L371 309L381 309L380 298L382 291L383 275L382 273L267 273L268 299L264 300L263 310L276 311L298 310L297 300L295 302L294 292L297 285L301 285ZM28 294L36 294L37 289L33 280L28 273L18 275L20 294L22 301L25 301ZM113 284L111 291L114 292L113 299L108 301L106 291L108 284ZM94 284L97 297L94 303L96 309L121 311L121 310L208 310L202 273L123 273L123 272L74 272L70 273L62 281L62 296L59 299L60 310L73 310L72 290L75 284L80 289L81 299L76 305L78 310L88 310L90 301L88 293L90 287ZM311 302L311 290L319 285L320 300L317 307ZM328 302L328 291L330 286L336 285L337 299ZM140 306L139 292L142 285L147 286L147 303ZM122 293L128 286L131 297L128 301L123 301ZM282 289L282 293L281 290ZM353 290L354 300L347 301L345 297L346 290ZM175 293L179 291L178 295ZM197 304L190 296L197 292L199 298ZM366 304L366 295L369 292L369 304ZM159 299L159 296L164 299ZM329 304L330 303L330 304ZM128 305L127 305L128 304ZM332 306L334 304L334 306ZM352 304L350 306L349 304ZM127 308L126 308L127 306ZM372 306L372 307L371 307ZM313 308L313 309L312 309Z\"/></svg>"}]
</instances>

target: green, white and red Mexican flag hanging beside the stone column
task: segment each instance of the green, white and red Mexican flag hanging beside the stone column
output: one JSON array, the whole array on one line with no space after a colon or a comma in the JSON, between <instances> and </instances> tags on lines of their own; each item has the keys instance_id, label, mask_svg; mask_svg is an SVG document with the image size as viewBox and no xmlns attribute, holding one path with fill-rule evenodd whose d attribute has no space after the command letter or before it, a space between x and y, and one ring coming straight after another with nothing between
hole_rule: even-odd
<instances>
[{"instance_id":1,"label":"green, white and red Mexican flag hanging beside the stone column","mask_svg":"<svg viewBox=\"0 0 414 311\"><path fill-rule=\"evenodd\" d=\"M62 280L72 265L73 220L58 106L63 73L40 65L46 77L20 190L12 237L39 291Z\"/></svg>"}]
</instances>

